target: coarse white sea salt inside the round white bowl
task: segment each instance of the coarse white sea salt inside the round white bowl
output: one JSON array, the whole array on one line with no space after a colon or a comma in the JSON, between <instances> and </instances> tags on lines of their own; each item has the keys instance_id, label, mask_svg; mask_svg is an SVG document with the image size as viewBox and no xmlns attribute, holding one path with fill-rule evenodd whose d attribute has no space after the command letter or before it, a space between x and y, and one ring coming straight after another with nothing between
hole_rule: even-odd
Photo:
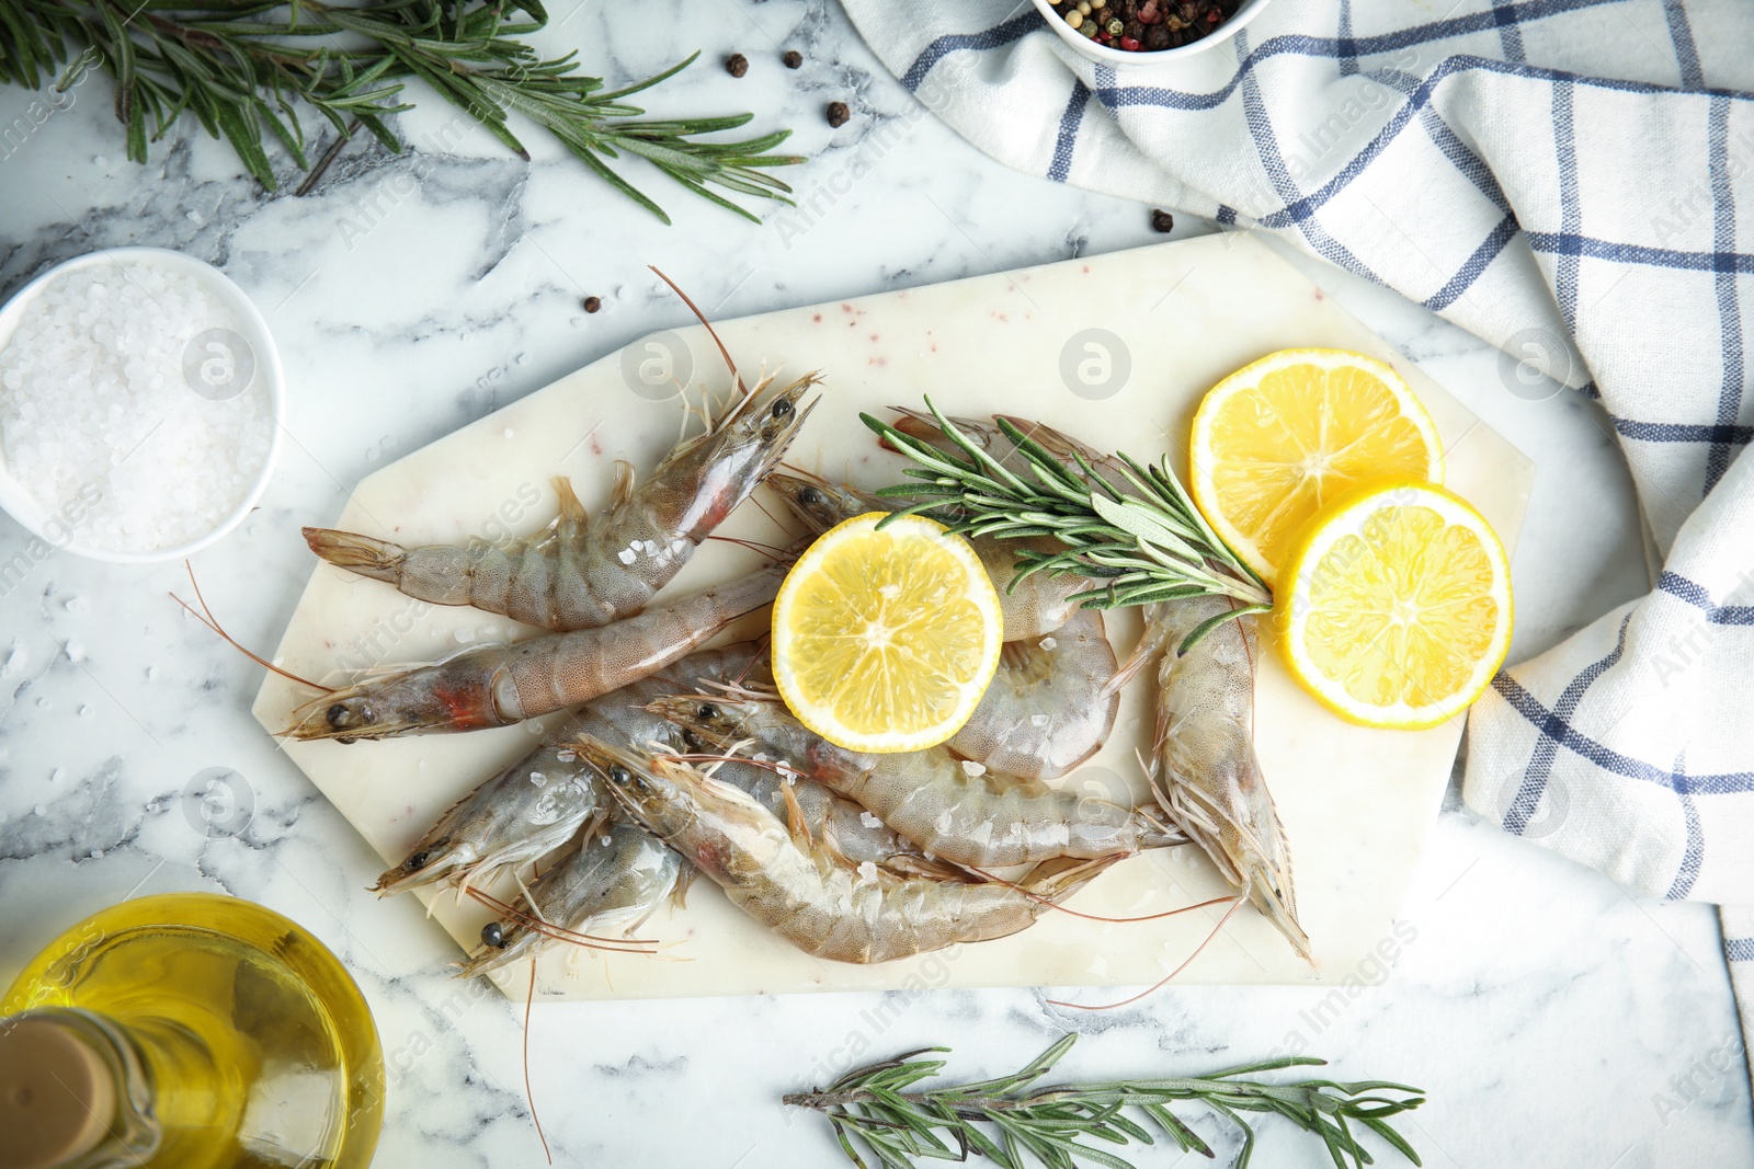
<instances>
[{"instance_id":1,"label":"coarse white sea salt inside the round white bowl","mask_svg":"<svg viewBox=\"0 0 1754 1169\"><path fill-rule=\"evenodd\" d=\"M91 547L205 536L249 494L274 438L265 379L225 386L246 363L260 370L242 340L217 294L153 263L49 280L0 351L7 471Z\"/></svg>"}]
</instances>

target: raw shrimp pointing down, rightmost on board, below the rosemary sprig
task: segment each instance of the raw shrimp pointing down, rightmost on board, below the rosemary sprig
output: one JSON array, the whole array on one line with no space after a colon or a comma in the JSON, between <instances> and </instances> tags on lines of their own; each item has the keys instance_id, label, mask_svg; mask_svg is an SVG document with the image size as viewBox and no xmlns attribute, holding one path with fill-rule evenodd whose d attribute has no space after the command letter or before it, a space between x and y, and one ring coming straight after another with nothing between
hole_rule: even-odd
<instances>
[{"instance_id":1,"label":"raw shrimp pointing down, rightmost on board, below the rosemary sprig","mask_svg":"<svg viewBox=\"0 0 1754 1169\"><path fill-rule=\"evenodd\" d=\"M1145 641L1135 652L1166 650L1158 668L1152 787L1177 827L1308 959L1291 848L1254 757L1254 619L1226 620L1186 654L1175 652L1200 622L1226 608L1224 598L1145 608Z\"/></svg>"}]
</instances>

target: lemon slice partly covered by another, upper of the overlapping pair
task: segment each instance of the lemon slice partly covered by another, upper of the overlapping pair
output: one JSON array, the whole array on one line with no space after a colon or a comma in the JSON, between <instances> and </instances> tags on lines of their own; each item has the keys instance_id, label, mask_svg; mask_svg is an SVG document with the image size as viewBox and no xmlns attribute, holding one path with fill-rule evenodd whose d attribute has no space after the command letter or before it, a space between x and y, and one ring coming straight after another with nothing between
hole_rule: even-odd
<instances>
[{"instance_id":1,"label":"lemon slice partly covered by another, upper of the overlapping pair","mask_svg":"<svg viewBox=\"0 0 1754 1169\"><path fill-rule=\"evenodd\" d=\"M1366 482L1444 480L1437 424L1407 380L1342 349L1284 349L1207 393L1194 503L1268 584L1310 515Z\"/></svg>"}]
</instances>

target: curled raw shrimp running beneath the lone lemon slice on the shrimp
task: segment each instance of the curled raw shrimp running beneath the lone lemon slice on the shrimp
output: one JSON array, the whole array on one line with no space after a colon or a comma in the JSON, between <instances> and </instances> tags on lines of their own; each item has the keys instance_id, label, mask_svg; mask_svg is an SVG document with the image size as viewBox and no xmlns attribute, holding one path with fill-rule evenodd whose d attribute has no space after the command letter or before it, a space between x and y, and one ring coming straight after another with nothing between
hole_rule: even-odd
<instances>
[{"instance_id":1,"label":"curled raw shrimp running beneath the lone lemon slice on the shrimp","mask_svg":"<svg viewBox=\"0 0 1754 1169\"><path fill-rule=\"evenodd\" d=\"M775 471L768 487L814 531L828 531L863 512L888 510L877 496L816 475ZM972 543L977 552L1012 556L1003 540ZM1000 571L1014 571L1012 561L1003 559ZM993 573L991 564L988 573ZM1037 580L1044 584L1033 584ZM1054 780L1077 768L1102 750L1121 710L1119 666L1102 613L1065 612L1054 599L1063 596L1059 585L1045 584L1047 578L1037 573L1016 592L1000 592L1007 638L1012 638L1012 622L1026 629L1058 624L1049 634L1005 641L980 706L949 743L958 755L1019 780Z\"/></svg>"}]
</instances>

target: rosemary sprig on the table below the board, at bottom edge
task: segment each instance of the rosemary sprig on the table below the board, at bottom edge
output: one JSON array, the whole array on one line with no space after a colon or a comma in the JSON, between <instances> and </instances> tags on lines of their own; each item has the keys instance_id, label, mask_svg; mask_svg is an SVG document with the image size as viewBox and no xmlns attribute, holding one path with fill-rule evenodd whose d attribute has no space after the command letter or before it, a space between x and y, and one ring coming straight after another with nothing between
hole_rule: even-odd
<instances>
[{"instance_id":1,"label":"rosemary sprig on the table below the board, at bottom edge","mask_svg":"<svg viewBox=\"0 0 1754 1169\"><path fill-rule=\"evenodd\" d=\"M791 1094L784 1102L826 1115L840 1148L859 1169L872 1169L873 1164L859 1153L861 1146L879 1169L916 1169L921 1160L966 1160L970 1153L1002 1169L1030 1164L1073 1169L1080 1160L1131 1169L1131 1162L1086 1139L1117 1146L1133 1141L1152 1144L1142 1120L1149 1120L1184 1153L1212 1157L1212 1148L1170 1111L1170 1104L1182 1101L1198 1101L1242 1129L1237 1169L1247 1169L1254 1153L1254 1129L1242 1118L1244 1113L1277 1113L1317 1134L1337 1169L1372 1164L1354 1125L1375 1132L1407 1160L1421 1164L1407 1137L1387 1123L1389 1116L1424 1104L1421 1088L1384 1080L1266 1083L1252 1078L1263 1071L1326 1062L1307 1055L1244 1064L1209 1076L1031 1088L1075 1041L1077 1036L1068 1034L1010 1076L916 1090L914 1085L937 1076L945 1064L917 1057L949 1050L923 1048L851 1071L826 1090Z\"/></svg>"}]
</instances>

